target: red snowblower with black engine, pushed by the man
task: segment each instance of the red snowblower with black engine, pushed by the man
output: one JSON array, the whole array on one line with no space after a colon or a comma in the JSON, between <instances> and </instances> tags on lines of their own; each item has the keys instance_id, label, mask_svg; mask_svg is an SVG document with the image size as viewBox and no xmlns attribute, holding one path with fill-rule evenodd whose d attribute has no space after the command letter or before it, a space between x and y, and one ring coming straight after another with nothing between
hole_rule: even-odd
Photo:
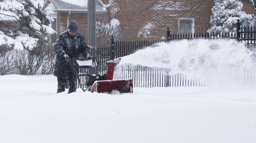
<instances>
[{"instance_id":1,"label":"red snowblower with black engine, pushed by the man","mask_svg":"<svg viewBox=\"0 0 256 143\"><path fill-rule=\"evenodd\" d=\"M132 93L132 79L113 80L114 69L116 64L121 61L121 58L107 62L107 74L82 74L77 75L78 84L85 92L86 90L98 93L111 93L119 91L120 93ZM98 61L92 59L71 59L68 61L73 71L76 73L76 68L96 68ZM85 76L85 82L82 85L80 76Z\"/></svg>"}]
</instances>

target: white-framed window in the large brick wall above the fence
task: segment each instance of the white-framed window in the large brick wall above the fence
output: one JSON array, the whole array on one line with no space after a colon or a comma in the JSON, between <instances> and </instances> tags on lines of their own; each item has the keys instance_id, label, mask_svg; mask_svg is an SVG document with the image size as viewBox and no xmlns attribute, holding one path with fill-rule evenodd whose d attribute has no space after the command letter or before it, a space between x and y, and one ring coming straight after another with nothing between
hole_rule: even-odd
<instances>
[{"instance_id":1,"label":"white-framed window in the large brick wall above the fence","mask_svg":"<svg viewBox=\"0 0 256 143\"><path fill-rule=\"evenodd\" d=\"M179 18L179 33L194 34L195 22L194 18Z\"/></svg>"}]
</instances>

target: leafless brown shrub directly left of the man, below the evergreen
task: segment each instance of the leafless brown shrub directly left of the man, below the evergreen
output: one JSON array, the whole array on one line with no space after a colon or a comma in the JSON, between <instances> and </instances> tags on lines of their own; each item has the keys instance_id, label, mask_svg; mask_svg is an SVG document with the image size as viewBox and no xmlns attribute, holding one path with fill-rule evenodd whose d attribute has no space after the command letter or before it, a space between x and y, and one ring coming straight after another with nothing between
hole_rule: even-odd
<instances>
[{"instance_id":1,"label":"leafless brown shrub directly left of the man, below the evergreen","mask_svg":"<svg viewBox=\"0 0 256 143\"><path fill-rule=\"evenodd\" d=\"M14 65L20 75L52 74L55 63L51 37L38 40L38 45L29 50L15 50Z\"/></svg>"}]
</instances>

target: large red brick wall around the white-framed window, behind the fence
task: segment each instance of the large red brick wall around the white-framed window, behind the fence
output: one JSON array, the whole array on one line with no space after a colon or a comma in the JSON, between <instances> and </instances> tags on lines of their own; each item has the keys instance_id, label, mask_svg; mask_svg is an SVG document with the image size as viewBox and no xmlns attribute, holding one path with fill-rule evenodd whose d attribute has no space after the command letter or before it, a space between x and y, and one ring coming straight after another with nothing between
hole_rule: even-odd
<instances>
[{"instance_id":1,"label":"large red brick wall around the white-framed window, behind the fence","mask_svg":"<svg viewBox=\"0 0 256 143\"><path fill-rule=\"evenodd\" d=\"M121 29L124 34L124 39L135 39L139 30L148 24L148 22L155 25L151 33L155 36L161 37L166 35L166 28L170 27L172 33L178 32L178 17L183 12L179 11L164 11L155 12L149 6L154 0L113 0L109 8L110 11L117 12L110 13L110 18L116 18L121 23ZM192 5L188 0L179 0L178 2ZM185 13L182 18L195 18L195 32L206 32L210 27L209 21L211 17L212 1L206 1L201 7L200 11L192 13Z\"/></svg>"}]
</instances>

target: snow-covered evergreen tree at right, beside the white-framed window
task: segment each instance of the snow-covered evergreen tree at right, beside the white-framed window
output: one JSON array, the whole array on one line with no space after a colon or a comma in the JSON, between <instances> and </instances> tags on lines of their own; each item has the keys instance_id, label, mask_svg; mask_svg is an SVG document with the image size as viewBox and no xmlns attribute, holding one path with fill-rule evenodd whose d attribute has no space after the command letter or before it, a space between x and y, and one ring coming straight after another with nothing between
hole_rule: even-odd
<instances>
[{"instance_id":1,"label":"snow-covered evergreen tree at right, beside the white-framed window","mask_svg":"<svg viewBox=\"0 0 256 143\"><path fill-rule=\"evenodd\" d=\"M252 18L241 11L243 4L238 0L214 0L214 3L209 33L235 32L237 19L243 24L247 18Z\"/></svg>"}]
</instances>

